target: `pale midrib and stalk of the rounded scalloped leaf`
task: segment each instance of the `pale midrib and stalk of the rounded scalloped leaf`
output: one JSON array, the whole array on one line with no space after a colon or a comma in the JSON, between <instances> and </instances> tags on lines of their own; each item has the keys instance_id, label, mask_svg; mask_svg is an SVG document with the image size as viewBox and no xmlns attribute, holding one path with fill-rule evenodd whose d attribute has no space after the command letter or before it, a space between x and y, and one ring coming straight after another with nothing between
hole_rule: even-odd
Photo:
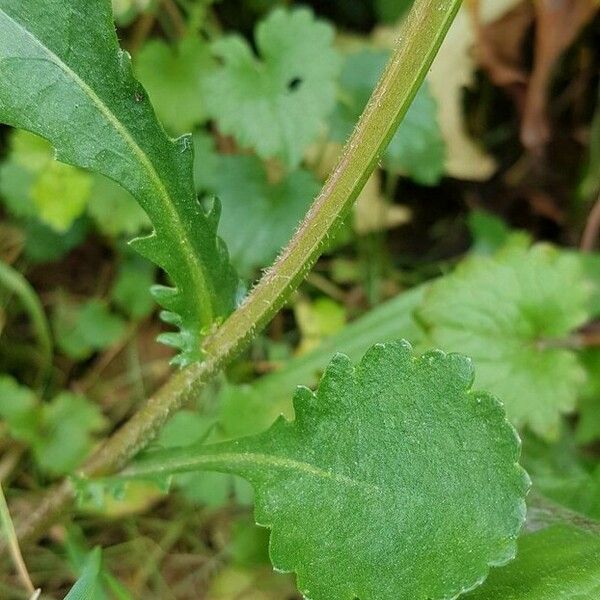
<instances>
[{"instance_id":1,"label":"pale midrib and stalk of the rounded scalloped leaf","mask_svg":"<svg viewBox=\"0 0 600 600\"><path fill-rule=\"evenodd\" d=\"M157 472L170 471L173 469L183 469L192 471L196 468L207 468L211 466L214 468L225 468L227 470L231 469L234 471L235 466L242 465L251 465L256 467L265 466L291 471L299 471L317 479L326 479L329 481L341 483L346 486L360 487L371 492L380 492L379 486L375 485L374 483L353 479L352 477L348 477L347 475L342 475L340 473L333 473L332 471L321 469L320 467L316 467L315 465L312 465L310 463L301 462L291 458L253 452L243 454L235 452L228 452L223 454L204 454L200 456L194 456L189 459L186 458L171 461L167 460L162 465L159 463L156 463L154 465L152 463L149 463L147 465L141 463L139 465L133 465L131 468L127 469L123 474L125 476L140 476L149 475Z\"/></svg>"}]
</instances>

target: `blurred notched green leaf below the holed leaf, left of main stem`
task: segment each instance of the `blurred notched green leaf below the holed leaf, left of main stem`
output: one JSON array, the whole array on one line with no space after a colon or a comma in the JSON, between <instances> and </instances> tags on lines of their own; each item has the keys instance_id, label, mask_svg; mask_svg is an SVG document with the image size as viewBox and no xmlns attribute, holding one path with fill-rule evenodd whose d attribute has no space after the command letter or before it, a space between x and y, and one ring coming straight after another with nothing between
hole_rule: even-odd
<instances>
[{"instance_id":1,"label":"blurred notched green leaf below the holed leaf, left of main stem","mask_svg":"<svg viewBox=\"0 0 600 600\"><path fill-rule=\"evenodd\" d=\"M214 189L223 207L219 234L239 271L250 275L275 259L321 186L302 169L270 184L253 156L224 156L220 169L227 176L220 177Z\"/></svg>"}]
</instances>

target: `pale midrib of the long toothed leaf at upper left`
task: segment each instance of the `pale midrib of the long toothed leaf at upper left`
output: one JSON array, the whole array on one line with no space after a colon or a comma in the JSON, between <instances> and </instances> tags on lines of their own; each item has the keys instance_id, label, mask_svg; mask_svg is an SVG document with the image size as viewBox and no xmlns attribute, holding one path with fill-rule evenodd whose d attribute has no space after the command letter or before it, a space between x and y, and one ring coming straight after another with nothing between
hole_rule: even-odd
<instances>
[{"instance_id":1,"label":"pale midrib of the long toothed leaf at upper left","mask_svg":"<svg viewBox=\"0 0 600 600\"><path fill-rule=\"evenodd\" d=\"M153 187L158 192L158 197L161 200L161 204L163 205L163 210L168 213L169 219L172 223L174 223L177 230L182 233L181 239L183 240L183 244L181 244L180 240L173 240L173 246L177 247L182 245L182 251L186 258L186 263L188 265L187 272L190 274L195 283L195 288L199 290L200 295L202 297L202 301L198 302L199 310L202 312L202 318L205 321L205 324L210 324L213 320L213 312L212 312L212 303L211 303L211 293L210 286L207 283L206 274L204 273L204 269L202 267L202 263L195 258L195 252L190 245L190 242L187 239L187 235L185 234L185 227L181 223L181 219L179 214L174 208L174 202L171 199L171 195L169 194L167 188L162 182L162 179L156 172L154 165L150 161L150 159L146 156L146 153L140 148L137 144L133 136L129 133L127 128L119 121L119 119L114 115L114 113L106 106L106 104L102 101L102 99L96 94L96 92L87 84L73 69L71 69L63 60L60 59L59 56L54 54L44 43L34 36L28 29L26 29L21 23L15 21L9 14L7 14L4 10L0 9L0 13L2 13L5 18L13 23L17 29L23 32L23 34L31 39L35 45L38 46L44 52L50 62L56 65L59 69L61 69L69 78L71 78L77 86L83 91L83 93L90 98L92 103L97 107L100 113L107 119L107 121L113 126L113 128L120 134L122 139L125 141L126 145L131 149L134 156L142 166L142 168L148 174L150 181Z\"/></svg>"}]
</instances>

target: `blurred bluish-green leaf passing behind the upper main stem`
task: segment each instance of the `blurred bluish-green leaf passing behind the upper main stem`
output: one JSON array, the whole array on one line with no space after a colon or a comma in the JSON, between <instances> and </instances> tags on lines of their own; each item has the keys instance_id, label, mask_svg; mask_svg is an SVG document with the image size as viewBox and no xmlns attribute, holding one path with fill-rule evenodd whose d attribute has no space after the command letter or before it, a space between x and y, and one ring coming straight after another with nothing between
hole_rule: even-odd
<instances>
[{"instance_id":1,"label":"blurred bluish-green leaf passing behind the upper main stem","mask_svg":"<svg viewBox=\"0 0 600 600\"><path fill-rule=\"evenodd\" d=\"M331 119L335 140L344 142L352 133L388 58L388 52L376 50L362 50L346 58L341 97ZM383 165L418 183L433 185L444 174L445 153L437 105L425 83L385 151Z\"/></svg>"}]
</instances>

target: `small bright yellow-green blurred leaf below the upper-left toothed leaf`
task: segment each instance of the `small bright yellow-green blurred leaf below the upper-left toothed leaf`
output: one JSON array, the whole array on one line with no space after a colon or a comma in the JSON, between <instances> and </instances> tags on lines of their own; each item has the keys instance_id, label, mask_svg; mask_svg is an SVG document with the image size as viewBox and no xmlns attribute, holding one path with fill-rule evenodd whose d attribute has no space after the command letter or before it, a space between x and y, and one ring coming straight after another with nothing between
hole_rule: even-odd
<instances>
[{"instance_id":1,"label":"small bright yellow-green blurred leaf below the upper-left toothed leaf","mask_svg":"<svg viewBox=\"0 0 600 600\"><path fill-rule=\"evenodd\" d=\"M58 231L67 231L87 206L91 177L69 165L51 162L31 188L39 218Z\"/></svg>"}]
</instances>

